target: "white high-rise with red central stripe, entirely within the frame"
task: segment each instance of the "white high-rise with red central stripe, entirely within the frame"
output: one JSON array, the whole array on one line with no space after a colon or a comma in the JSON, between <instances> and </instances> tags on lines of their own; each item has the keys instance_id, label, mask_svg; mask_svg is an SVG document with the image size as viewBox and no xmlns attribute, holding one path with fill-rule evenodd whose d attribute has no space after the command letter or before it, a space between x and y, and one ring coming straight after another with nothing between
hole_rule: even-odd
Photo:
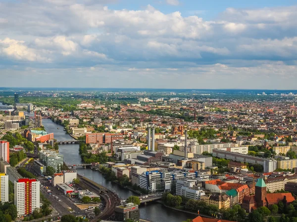
<instances>
[{"instance_id":1,"label":"white high-rise with red central stripe, entirely within the frame","mask_svg":"<svg viewBox=\"0 0 297 222\"><path fill-rule=\"evenodd\" d=\"M40 182L36 179L19 179L14 181L14 204L17 215L32 214L40 208Z\"/></svg>"}]
</instances>

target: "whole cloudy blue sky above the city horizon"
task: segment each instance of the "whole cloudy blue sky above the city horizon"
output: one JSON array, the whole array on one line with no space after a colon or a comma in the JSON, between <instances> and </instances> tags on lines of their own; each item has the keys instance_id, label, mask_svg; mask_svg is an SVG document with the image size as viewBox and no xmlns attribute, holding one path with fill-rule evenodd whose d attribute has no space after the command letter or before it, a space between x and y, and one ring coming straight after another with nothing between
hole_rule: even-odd
<instances>
[{"instance_id":1,"label":"whole cloudy blue sky above the city horizon","mask_svg":"<svg viewBox=\"0 0 297 222\"><path fill-rule=\"evenodd\" d=\"M0 0L0 87L296 83L296 0Z\"/></svg>"}]
</instances>

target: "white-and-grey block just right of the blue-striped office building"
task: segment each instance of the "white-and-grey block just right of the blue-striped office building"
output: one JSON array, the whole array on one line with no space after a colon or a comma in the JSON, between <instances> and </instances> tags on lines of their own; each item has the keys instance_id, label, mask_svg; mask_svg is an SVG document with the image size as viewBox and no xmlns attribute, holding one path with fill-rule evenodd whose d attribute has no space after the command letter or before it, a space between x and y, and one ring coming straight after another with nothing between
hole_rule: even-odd
<instances>
[{"instance_id":1,"label":"white-and-grey block just right of the blue-striped office building","mask_svg":"<svg viewBox=\"0 0 297 222\"><path fill-rule=\"evenodd\" d=\"M205 192L197 185L197 180L179 178L176 182L176 195L185 196L190 199L200 200Z\"/></svg>"}]
</instances>

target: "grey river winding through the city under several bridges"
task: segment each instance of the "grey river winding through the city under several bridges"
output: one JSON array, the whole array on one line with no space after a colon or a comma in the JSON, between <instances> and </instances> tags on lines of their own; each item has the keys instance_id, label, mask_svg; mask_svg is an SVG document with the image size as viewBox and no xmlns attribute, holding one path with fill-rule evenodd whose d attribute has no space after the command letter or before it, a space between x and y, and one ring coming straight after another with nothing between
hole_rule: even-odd
<instances>
[{"instance_id":1,"label":"grey river winding through the city under several bridges","mask_svg":"<svg viewBox=\"0 0 297 222\"><path fill-rule=\"evenodd\" d=\"M53 133L54 138L58 141L70 141L74 140L70 137L63 127L52 122L50 119L43 119L43 125L48 133ZM59 128L59 129L57 129ZM64 155L64 162L69 164L79 164L82 163L79 155L79 145L78 144L68 144L68 145L59 145L59 152ZM94 182L108 187L111 190L115 190L116 193L124 199L127 199L131 195L135 195L128 189L125 189L117 184L106 181L102 174L98 171L93 171L89 168L77 168L77 172ZM187 219L194 219L195 215L187 214L184 212L178 212L164 207L162 204L151 202L146 206L140 206L140 217L151 222L182 222Z\"/></svg>"}]
</instances>

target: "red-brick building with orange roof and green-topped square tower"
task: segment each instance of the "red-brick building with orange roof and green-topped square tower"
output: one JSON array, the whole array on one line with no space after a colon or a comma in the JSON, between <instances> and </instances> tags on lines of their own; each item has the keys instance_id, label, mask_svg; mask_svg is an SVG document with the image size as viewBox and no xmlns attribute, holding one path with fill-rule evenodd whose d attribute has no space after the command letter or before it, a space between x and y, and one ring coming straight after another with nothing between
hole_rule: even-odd
<instances>
[{"instance_id":1,"label":"red-brick building with orange roof and green-topped square tower","mask_svg":"<svg viewBox=\"0 0 297 222\"><path fill-rule=\"evenodd\" d=\"M292 193L267 193L267 187L262 178L258 179L255 185L255 195L245 196L242 207L247 213L258 207L270 208L273 204L283 201L284 205L289 205L295 200Z\"/></svg>"}]
</instances>

